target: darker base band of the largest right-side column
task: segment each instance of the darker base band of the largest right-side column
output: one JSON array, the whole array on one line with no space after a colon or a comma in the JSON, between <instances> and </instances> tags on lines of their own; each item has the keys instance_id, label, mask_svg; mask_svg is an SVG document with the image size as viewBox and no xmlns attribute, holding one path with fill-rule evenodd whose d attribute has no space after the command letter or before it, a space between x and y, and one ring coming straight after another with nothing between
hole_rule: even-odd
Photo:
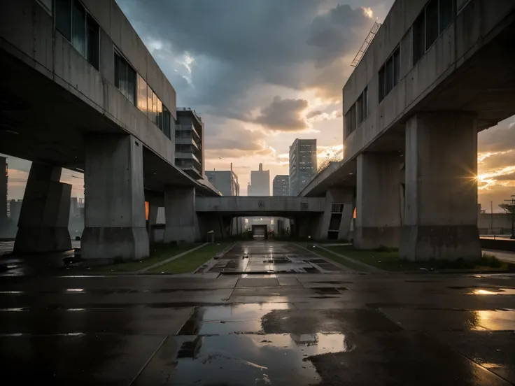
<instances>
[{"instance_id":1,"label":"darker base band of the largest right-side column","mask_svg":"<svg viewBox=\"0 0 515 386\"><path fill-rule=\"evenodd\" d=\"M403 227L399 257L411 261L480 259L477 225Z\"/></svg>"}]
</instances>

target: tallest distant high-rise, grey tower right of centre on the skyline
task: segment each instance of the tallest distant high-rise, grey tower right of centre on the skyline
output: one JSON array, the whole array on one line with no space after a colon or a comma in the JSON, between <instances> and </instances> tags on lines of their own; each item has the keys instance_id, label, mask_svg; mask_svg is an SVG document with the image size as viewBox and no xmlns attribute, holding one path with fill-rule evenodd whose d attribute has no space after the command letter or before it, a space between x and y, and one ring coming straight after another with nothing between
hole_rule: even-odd
<instances>
[{"instance_id":1,"label":"tallest distant high-rise, grey tower right of centre on the skyline","mask_svg":"<svg viewBox=\"0 0 515 386\"><path fill-rule=\"evenodd\" d=\"M290 196L297 196L316 174L316 139L295 138L290 146Z\"/></svg>"}]
</instances>

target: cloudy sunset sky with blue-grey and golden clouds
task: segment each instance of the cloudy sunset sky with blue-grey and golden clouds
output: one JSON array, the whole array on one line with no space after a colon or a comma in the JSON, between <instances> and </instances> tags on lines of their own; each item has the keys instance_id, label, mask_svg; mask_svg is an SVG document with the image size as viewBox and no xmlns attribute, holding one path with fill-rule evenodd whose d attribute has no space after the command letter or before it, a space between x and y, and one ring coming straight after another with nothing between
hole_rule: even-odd
<instances>
[{"instance_id":1,"label":"cloudy sunset sky with blue-grey and golden clouds","mask_svg":"<svg viewBox=\"0 0 515 386\"><path fill-rule=\"evenodd\" d=\"M232 162L241 193L263 163L288 173L295 138L319 162L342 148L341 88L374 20L393 0L117 0L177 92L205 124L206 170ZM479 201L515 194L515 118L479 134ZM29 163L10 158L11 198ZM64 171L82 196L83 180Z\"/></svg>"}]
</instances>

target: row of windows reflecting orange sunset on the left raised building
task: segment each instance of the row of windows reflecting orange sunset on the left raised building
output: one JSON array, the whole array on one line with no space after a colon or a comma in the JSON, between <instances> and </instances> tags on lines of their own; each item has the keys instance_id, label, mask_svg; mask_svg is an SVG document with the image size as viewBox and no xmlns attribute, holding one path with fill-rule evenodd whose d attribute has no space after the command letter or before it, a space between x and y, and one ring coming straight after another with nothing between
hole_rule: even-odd
<instances>
[{"instance_id":1,"label":"row of windows reflecting orange sunset on the left raised building","mask_svg":"<svg viewBox=\"0 0 515 386\"><path fill-rule=\"evenodd\" d=\"M115 86L131 101L150 122L171 137L171 114L139 73L115 52Z\"/></svg>"}]
</instances>

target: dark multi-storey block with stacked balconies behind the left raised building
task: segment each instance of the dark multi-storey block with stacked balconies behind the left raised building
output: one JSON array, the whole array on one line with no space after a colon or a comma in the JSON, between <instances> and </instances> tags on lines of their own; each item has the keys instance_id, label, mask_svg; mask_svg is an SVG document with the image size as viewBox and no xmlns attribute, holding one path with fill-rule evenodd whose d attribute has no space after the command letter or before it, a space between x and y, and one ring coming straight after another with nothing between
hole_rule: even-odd
<instances>
[{"instance_id":1,"label":"dark multi-storey block with stacked balconies behind the left raised building","mask_svg":"<svg viewBox=\"0 0 515 386\"><path fill-rule=\"evenodd\" d=\"M191 108L177 108L175 164L195 180L204 175L204 123Z\"/></svg>"}]
</instances>

